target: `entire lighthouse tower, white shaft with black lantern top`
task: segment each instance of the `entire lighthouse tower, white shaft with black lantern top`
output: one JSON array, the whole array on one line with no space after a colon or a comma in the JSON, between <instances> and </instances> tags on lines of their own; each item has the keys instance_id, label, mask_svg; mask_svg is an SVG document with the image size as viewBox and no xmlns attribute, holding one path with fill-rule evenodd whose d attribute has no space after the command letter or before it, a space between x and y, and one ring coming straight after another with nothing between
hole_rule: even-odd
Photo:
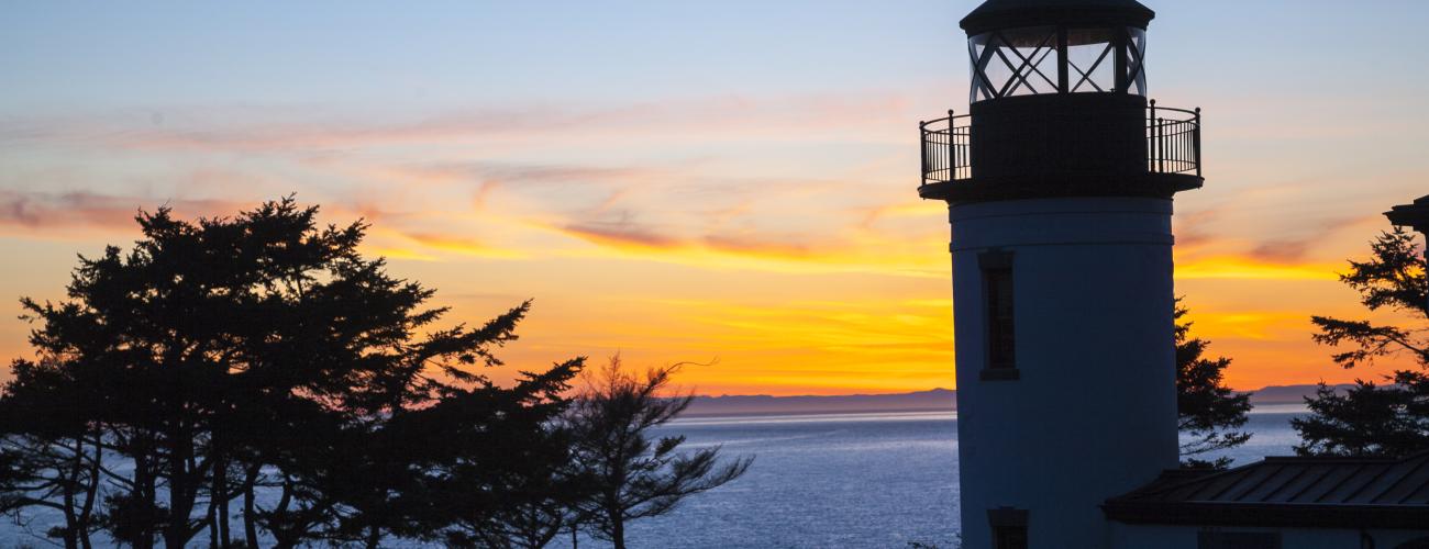
<instances>
[{"instance_id":1,"label":"entire lighthouse tower, white shaft with black lantern top","mask_svg":"<svg viewBox=\"0 0 1429 549\"><path fill-rule=\"evenodd\" d=\"M1107 548L1102 503L1177 466L1172 197L1200 113L1146 97L1135 0L989 0L967 114L922 124L949 204L963 546Z\"/></svg>"}]
</instances>

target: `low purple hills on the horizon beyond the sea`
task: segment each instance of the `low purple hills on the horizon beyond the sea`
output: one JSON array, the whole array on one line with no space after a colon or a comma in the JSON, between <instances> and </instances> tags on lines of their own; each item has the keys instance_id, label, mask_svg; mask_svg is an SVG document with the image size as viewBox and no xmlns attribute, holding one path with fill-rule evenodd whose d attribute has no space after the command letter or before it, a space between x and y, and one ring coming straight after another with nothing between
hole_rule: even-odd
<instances>
[{"instance_id":1,"label":"low purple hills on the horizon beyond the sea","mask_svg":"<svg viewBox=\"0 0 1429 549\"><path fill-rule=\"evenodd\" d=\"M1352 385L1336 385L1346 389ZM1315 394L1315 385L1273 385L1255 391L1253 405L1305 404ZM712 415L797 415L797 414L856 414L856 412L915 412L955 411L957 391L932 389L896 395L839 395L839 396L769 396L726 395L696 396L684 416Z\"/></svg>"}]
</instances>

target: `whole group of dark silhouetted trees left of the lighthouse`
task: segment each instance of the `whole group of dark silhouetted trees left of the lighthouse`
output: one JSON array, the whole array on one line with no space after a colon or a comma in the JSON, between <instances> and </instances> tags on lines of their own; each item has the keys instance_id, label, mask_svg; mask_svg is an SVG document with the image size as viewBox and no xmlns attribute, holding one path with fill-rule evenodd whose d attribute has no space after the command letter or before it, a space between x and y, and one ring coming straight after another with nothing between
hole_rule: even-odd
<instances>
[{"instance_id":1,"label":"whole group of dark silhouetted trees left of the lighthouse","mask_svg":"<svg viewBox=\"0 0 1429 549\"><path fill-rule=\"evenodd\" d=\"M440 327L430 288L293 200L233 218L137 217L60 302L23 299L36 359L0 394L0 512L66 548L536 548L737 478L749 461L654 439L672 368L584 358L499 385L530 302ZM99 538L103 536L103 538Z\"/></svg>"}]
</instances>

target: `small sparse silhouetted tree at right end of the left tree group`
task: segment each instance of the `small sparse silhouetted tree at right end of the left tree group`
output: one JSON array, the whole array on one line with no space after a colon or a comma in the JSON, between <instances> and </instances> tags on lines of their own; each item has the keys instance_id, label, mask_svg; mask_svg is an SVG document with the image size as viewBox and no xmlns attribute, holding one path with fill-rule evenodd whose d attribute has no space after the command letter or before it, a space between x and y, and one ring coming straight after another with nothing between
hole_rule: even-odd
<instances>
[{"instance_id":1,"label":"small sparse silhouetted tree at right end of the left tree group","mask_svg":"<svg viewBox=\"0 0 1429 549\"><path fill-rule=\"evenodd\" d=\"M594 526L597 538L624 549L626 523L663 515L693 493L730 482L752 458L719 463L719 448L677 452L684 436L652 439L650 429L683 412L692 395L662 395L680 365L627 372L620 356L590 375L567 415L576 463L594 482L593 495L577 503L577 520Z\"/></svg>"}]
</instances>

